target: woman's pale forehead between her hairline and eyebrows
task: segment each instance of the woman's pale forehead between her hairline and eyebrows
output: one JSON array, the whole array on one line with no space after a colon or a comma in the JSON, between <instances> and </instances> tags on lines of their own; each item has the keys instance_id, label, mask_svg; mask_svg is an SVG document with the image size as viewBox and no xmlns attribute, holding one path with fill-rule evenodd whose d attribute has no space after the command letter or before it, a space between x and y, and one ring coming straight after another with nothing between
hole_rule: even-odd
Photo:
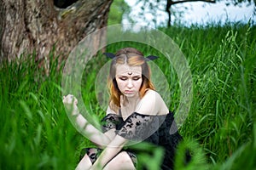
<instances>
[{"instance_id":1,"label":"woman's pale forehead between her hairline and eyebrows","mask_svg":"<svg viewBox=\"0 0 256 170\"><path fill-rule=\"evenodd\" d=\"M116 65L116 75L142 75L142 66Z\"/></svg>"}]
</instances>

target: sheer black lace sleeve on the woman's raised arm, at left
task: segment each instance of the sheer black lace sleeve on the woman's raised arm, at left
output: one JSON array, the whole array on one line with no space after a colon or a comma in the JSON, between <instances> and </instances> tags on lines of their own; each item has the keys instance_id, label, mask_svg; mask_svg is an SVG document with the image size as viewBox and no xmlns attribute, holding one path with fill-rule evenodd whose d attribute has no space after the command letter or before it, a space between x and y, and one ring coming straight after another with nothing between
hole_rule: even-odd
<instances>
[{"instance_id":1,"label":"sheer black lace sleeve on the woman's raised arm, at left","mask_svg":"<svg viewBox=\"0 0 256 170\"><path fill-rule=\"evenodd\" d=\"M102 118L102 132L105 133L112 128L116 128L119 124L119 116L116 114L108 114Z\"/></svg>"}]
</instances>

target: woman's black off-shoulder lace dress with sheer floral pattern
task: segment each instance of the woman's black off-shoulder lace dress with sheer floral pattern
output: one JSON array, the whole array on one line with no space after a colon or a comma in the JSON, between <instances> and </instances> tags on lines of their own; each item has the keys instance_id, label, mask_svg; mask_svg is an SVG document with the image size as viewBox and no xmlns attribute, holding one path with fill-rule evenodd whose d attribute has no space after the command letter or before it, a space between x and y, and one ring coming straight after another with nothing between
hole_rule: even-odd
<instances>
[{"instance_id":1,"label":"woman's black off-shoulder lace dress with sheer floral pattern","mask_svg":"<svg viewBox=\"0 0 256 170\"><path fill-rule=\"evenodd\" d=\"M162 146L165 149L165 156L161 169L173 169L175 150L182 137L177 132L172 112L164 116L147 116L134 112L125 121L117 114L108 114L102 119L102 131L107 132L113 128L116 129L115 133L125 139L144 141ZM133 161L135 166L137 166L136 151L129 149L129 147L124 150L131 157L131 161ZM92 163L96 161L101 151L96 148L86 149Z\"/></svg>"}]
</instances>

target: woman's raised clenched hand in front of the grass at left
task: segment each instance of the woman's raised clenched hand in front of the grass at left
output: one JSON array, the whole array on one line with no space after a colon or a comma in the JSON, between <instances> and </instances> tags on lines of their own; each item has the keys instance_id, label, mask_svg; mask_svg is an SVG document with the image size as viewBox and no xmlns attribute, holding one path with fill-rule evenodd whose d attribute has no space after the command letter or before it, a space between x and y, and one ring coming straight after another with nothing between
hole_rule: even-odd
<instances>
[{"instance_id":1,"label":"woman's raised clenched hand in front of the grass at left","mask_svg":"<svg viewBox=\"0 0 256 170\"><path fill-rule=\"evenodd\" d=\"M67 108L67 110L72 112L73 116L79 114L78 99L76 99L72 94L63 96L62 102Z\"/></svg>"}]
</instances>

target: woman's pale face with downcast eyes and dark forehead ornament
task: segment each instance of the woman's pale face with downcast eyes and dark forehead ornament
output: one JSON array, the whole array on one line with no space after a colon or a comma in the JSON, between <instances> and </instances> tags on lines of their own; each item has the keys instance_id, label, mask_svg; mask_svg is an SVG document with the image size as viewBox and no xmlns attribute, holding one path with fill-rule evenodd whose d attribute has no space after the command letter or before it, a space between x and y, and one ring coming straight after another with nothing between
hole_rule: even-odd
<instances>
[{"instance_id":1,"label":"woman's pale face with downcast eyes and dark forehead ornament","mask_svg":"<svg viewBox=\"0 0 256 170\"><path fill-rule=\"evenodd\" d=\"M121 93L128 98L134 97L143 82L142 66L116 65L115 78Z\"/></svg>"}]
</instances>

